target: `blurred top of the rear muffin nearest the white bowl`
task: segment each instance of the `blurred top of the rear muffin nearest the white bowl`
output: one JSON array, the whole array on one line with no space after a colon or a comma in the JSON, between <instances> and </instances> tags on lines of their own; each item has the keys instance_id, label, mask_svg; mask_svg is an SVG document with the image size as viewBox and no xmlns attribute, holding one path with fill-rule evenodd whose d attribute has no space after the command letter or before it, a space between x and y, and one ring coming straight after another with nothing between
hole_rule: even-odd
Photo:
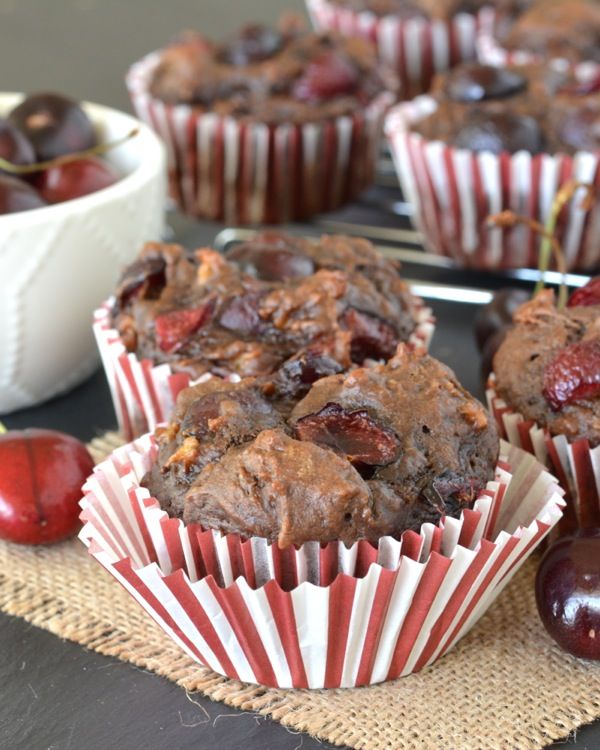
<instances>
[{"instance_id":1,"label":"blurred top of the rear muffin nearest the white bowl","mask_svg":"<svg viewBox=\"0 0 600 750\"><path fill-rule=\"evenodd\" d=\"M159 53L151 94L221 116L268 123L351 115L396 81L361 39L243 27L222 44L186 32Z\"/></svg>"}]
</instances>

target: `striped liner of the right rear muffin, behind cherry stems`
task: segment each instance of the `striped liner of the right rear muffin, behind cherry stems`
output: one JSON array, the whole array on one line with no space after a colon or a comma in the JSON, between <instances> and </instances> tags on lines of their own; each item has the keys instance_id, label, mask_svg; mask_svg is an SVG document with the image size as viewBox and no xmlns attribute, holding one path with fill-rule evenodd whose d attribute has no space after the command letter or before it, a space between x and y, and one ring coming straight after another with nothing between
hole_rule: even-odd
<instances>
[{"instance_id":1,"label":"striped liner of the right rear muffin, behind cherry stems","mask_svg":"<svg viewBox=\"0 0 600 750\"><path fill-rule=\"evenodd\" d=\"M411 131L436 106L430 96L417 97L394 107L385 125L426 248L471 268L537 268L536 233L526 226L491 229L486 218L509 209L544 224L556 192L568 180L600 188L600 153L496 155L454 148ZM568 268L584 270L600 263L600 202L588 213L580 203L576 196L565 207L556 235Z\"/></svg>"}]
</instances>

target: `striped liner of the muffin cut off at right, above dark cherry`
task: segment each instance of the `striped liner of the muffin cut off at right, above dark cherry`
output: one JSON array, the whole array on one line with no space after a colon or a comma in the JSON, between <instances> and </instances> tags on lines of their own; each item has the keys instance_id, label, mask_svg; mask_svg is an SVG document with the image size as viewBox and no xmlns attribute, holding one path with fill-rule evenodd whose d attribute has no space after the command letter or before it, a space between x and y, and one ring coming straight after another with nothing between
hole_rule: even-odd
<instances>
[{"instance_id":1,"label":"striped liner of the muffin cut off at right, above dark cherry","mask_svg":"<svg viewBox=\"0 0 600 750\"><path fill-rule=\"evenodd\" d=\"M550 435L500 398L495 382L491 375L486 395L501 436L532 453L556 475L565 490L567 505L561 533L600 526L600 446L591 448L587 440L570 441L565 435Z\"/></svg>"}]
</instances>

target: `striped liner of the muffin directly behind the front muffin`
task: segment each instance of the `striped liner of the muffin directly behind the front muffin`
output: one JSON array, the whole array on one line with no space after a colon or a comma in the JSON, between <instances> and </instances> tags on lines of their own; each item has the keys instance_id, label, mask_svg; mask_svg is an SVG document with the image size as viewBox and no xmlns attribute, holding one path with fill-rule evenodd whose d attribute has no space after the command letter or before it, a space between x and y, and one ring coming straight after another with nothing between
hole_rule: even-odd
<instances>
[{"instance_id":1,"label":"striped liner of the muffin directly behind the front muffin","mask_svg":"<svg viewBox=\"0 0 600 750\"><path fill-rule=\"evenodd\" d=\"M435 329L431 308L422 299L413 297L417 327L408 343L429 348ZM94 312L94 335L110 387L119 429L126 440L151 432L168 421L177 394L192 384L189 375L171 370L170 365L155 365L149 359L139 360L127 351L118 331L112 328L107 300ZM211 377L210 375L205 375ZM238 379L230 375L230 379ZM193 381L198 382L198 381Z\"/></svg>"}]
</instances>

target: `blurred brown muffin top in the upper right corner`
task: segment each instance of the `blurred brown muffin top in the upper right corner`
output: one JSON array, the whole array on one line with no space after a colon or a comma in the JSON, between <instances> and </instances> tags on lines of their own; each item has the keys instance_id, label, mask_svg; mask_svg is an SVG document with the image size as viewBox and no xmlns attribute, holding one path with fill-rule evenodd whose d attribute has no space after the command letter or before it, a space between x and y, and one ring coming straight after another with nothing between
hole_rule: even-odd
<instances>
[{"instance_id":1,"label":"blurred brown muffin top in the upper right corner","mask_svg":"<svg viewBox=\"0 0 600 750\"><path fill-rule=\"evenodd\" d=\"M600 62L597 0L537 0L514 23L499 24L499 41L543 59Z\"/></svg>"}]
</instances>

